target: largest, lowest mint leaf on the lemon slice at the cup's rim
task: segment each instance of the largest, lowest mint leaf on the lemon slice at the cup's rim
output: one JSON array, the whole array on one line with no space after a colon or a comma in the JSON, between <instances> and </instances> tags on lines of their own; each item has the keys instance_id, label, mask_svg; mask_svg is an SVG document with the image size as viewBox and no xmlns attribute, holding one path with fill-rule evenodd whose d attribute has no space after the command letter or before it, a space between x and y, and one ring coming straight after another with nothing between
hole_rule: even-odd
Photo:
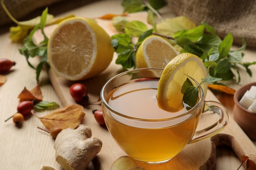
<instances>
[{"instance_id":1,"label":"largest, lowest mint leaf on the lemon slice at the cup's rim","mask_svg":"<svg viewBox=\"0 0 256 170\"><path fill-rule=\"evenodd\" d=\"M183 95L183 102L190 107L195 106L198 99L198 87L189 86L184 95Z\"/></svg>"}]
</instances>

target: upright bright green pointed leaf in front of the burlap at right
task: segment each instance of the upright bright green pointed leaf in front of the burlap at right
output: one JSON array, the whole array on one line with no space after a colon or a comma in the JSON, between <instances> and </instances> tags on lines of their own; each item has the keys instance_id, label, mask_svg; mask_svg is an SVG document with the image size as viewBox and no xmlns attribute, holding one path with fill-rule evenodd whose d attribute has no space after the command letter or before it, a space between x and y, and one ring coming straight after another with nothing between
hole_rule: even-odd
<instances>
[{"instance_id":1,"label":"upright bright green pointed leaf in front of the burlap at right","mask_svg":"<svg viewBox=\"0 0 256 170\"><path fill-rule=\"evenodd\" d=\"M228 33L222 40L219 46L220 59L226 57L229 54L229 50L233 44L233 35Z\"/></svg>"}]
</instances>

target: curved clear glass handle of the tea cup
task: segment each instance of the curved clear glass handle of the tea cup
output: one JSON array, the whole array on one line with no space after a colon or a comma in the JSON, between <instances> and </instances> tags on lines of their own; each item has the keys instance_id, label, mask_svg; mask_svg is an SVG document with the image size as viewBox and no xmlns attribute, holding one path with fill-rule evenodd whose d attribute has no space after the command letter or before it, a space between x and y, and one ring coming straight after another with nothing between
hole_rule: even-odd
<instances>
[{"instance_id":1,"label":"curved clear glass handle of the tea cup","mask_svg":"<svg viewBox=\"0 0 256 170\"><path fill-rule=\"evenodd\" d=\"M195 135L192 137L189 144L212 137L213 135L216 135L218 132L220 132L223 128L225 128L225 126L227 126L229 121L229 114L227 113L225 106L215 101L205 101L205 106L207 106L207 109L204 110L203 113L208 111L217 113L220 116L220 119L207 128L195 131Z\"/></svg>"}]
</instances>

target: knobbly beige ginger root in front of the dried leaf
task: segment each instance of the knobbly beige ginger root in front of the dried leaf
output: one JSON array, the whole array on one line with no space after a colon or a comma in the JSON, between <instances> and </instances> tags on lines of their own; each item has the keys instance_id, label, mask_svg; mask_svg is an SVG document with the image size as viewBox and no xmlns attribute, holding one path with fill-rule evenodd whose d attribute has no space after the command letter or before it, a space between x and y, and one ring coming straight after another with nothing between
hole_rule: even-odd
<instances>
[{"instance_id":1,"label":"knobbly beige ginger root in front of the dried leaf","mask_svg":"<svg viewBox=\"0 0 256 170\"><path fill-rule=\"evenodd\" d=\"M56 161L65 170L85 170L92 159L101 150L100 139L92 137L88 126L62 130L56 137L54 148Z\"/></svg>"}]
</instances>

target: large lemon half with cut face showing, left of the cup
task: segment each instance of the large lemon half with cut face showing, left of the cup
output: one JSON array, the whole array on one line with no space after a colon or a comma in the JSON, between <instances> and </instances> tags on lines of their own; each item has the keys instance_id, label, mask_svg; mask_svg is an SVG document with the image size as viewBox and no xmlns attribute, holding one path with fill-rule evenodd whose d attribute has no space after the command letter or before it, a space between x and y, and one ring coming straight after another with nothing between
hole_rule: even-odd
<instances>
[{"instance_id":1,"label":"large lemon half with cut face showing, left of the cup","mask_svg":"<svg viewBox=\"0 0 256 170\"><path fill-rule=\"evenodd\" d=\"M108 67L113 54L108 33L94 20L81 17L60 22L47 46L52 70L69 80L98 75Z\"/></svg>"}]
</instances>

